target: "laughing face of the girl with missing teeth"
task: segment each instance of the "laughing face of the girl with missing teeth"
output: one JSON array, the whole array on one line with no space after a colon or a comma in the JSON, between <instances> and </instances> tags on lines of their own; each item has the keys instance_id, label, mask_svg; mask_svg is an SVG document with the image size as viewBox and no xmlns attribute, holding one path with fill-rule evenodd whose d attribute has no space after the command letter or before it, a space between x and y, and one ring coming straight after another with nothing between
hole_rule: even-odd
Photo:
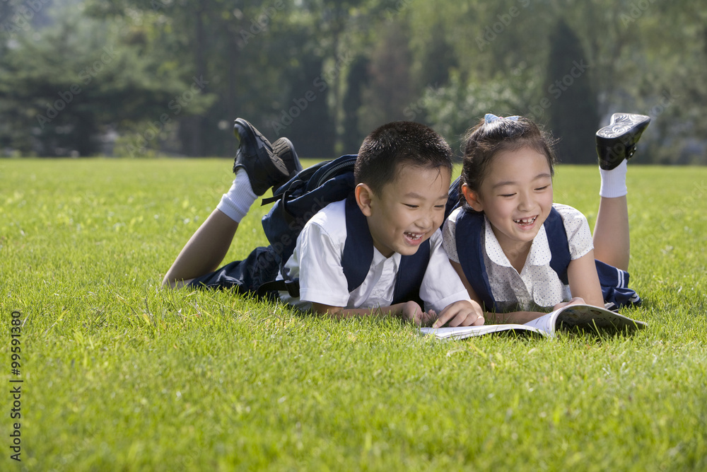
<instances>
[{"instance_id":1,"label":"laughing face of the girl with missing teeth","mask_svg":"<svg viewBox=\"0 0 707 472\"><path fill-rule=\"evenodd\" d=\"M552 207L552 176L544 154L522 148L502 151L489 163L479 192L467 202L486 214L506 254L530 248Z\"/></svg>"}]
</instances>

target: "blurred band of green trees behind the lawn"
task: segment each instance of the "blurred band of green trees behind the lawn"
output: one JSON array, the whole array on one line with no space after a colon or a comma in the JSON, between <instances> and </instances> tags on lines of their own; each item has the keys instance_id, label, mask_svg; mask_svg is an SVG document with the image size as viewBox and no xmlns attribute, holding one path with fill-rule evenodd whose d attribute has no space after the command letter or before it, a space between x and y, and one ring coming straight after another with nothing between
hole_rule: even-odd
<instances>
[{"instance_id":1,"label":"blurred band of green trees behind the lawn","mask_svg":"<svg viewBox=\"0 0 707 472\"><path fill-rule=\"evenodd\" d=\"M235 117L300 156L392 120L457 154L525 115L594 163L617 111L638 162L707 164L707 4L655 0L0 0L0 156L233 156Z\"/></svg>"}]
</instances>

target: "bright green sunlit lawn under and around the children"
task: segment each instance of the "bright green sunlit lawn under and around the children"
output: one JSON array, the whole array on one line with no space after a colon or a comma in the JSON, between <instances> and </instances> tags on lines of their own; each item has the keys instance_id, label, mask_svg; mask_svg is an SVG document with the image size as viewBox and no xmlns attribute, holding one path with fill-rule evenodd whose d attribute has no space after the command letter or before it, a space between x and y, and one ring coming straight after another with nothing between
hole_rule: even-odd
<instances>
[{"instance_id":1,"label":"bright green sunlit lawn under and around the children","mask_svg":"<svg viewBox=\"0 0 707 472\"><path fill-rule=\"evenodd\" d=\"M707 168L629 166L644 305L624 313L648 330L439 342L397 321L161 290L229 166L0 161L0 468L707 469ZM561 166L554 186L593 223L595 167ZM252 210L228 260L265 243Z\"/></svg>"}]
</instances>

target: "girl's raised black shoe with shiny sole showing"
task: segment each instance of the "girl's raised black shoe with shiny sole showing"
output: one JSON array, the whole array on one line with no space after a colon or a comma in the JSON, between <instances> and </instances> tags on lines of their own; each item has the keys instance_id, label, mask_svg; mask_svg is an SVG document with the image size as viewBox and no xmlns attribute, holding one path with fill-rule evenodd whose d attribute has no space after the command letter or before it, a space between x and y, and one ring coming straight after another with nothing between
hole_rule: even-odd
<instances>
[{"instance_id":1,"label":"girl's raised black shoe with shiny sole showing","mask_svg":"<svg viewBox=\"0 0 707 472\"><path fill-rule=\"evenodd\" d=\"M624 159L631 159L636 152L636 143L649 123L650 117L645 115L614 113L611 124L597 131L600 168L610 171Z\"/></svg>"}]
</instances>

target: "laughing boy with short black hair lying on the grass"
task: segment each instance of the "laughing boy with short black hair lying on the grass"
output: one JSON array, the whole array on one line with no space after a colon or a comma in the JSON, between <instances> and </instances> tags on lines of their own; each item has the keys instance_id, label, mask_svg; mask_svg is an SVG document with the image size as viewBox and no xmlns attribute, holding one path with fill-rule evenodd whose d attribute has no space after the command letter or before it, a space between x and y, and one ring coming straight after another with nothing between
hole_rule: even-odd
<instances>
[{"instance_id":1,"label":"laughing boy with short black hair lying on the grass","mask_svg":"<svg viewBox=\"0 0 707 472\"><path fill-rule=\"evenodd\" d=\"M240 148L233 185L177 256L165 285L252 287L275 278L252 270L258 250L245 261L211 272L257 196L278 188L300 168L288 140L279 139L273 146L240 118L235 134ZM480 306L469 299L441 246L451 156L444 139L424 125L394 122L375 129L358 152L354 197L327 205L305 224L284 273L277 275L298 279L299 297L280 292L280 299L337 318L389 314L417 324L436 320L436 327L483 324ZM347 221L351 224L354 218L361 223L347 229ZM373 245L373 260L363 283L348 287L342 252L347 233L354 230L363 250ZM419 289L428 310L415 301L392 304L402 256L414 255L428 239L430 257Z\"/></svg>"}]
</instances>

